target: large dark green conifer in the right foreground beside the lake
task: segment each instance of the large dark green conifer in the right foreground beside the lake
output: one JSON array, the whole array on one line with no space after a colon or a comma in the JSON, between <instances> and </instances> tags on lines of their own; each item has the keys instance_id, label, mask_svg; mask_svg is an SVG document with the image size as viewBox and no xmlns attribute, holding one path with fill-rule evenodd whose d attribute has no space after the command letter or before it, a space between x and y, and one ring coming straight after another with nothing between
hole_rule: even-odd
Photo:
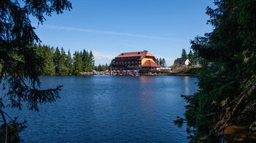
<instances>
[{"instance_id":1,"label":"large dark green conifer in the right foreground beside the lake","mask_svg":"<svg viewBox=\"0 0 256 143\"><path fill-rule=\"evenodd\" d=\"M255 142L250 134L226 135L232 125L256 126L256 12L252 0L217 0L207 7L214 30L197 36L192 50L202 72L185 117L190 142ZM255 134L255 133L252 133ZM252 139L252 140L250 140Z\"/></svg>"}]
</instances>

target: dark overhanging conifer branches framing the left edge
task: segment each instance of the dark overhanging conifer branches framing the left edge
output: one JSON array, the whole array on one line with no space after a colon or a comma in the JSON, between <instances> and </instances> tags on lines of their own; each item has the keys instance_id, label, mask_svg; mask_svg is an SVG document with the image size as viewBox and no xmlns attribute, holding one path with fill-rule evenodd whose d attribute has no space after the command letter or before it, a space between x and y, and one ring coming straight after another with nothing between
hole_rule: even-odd
<instances>
[{"instance_id":1,"label":"dark overhanging conifer branches framing the left edge","mask_svg":"<svg viewBox=\"0 0 256 143\"><path fill-rule=\"evenodd\" d=\"M0 113L4 120L0 131L1 142L20 142L18 133L25 127L16 120L7 123L4 107L22 109L26 104L29 109L38 111L38 104L59 98L61 86L39 90L43 61L30 46L39 42L39 37L31 26L29 15L37 18L40 24L45 20L45 15L50 16L53 12L61 14L65 9L72 9L72 4L67 0L0 1L0 82L7 87L3 88L7 91L0 97ZM9 102L4 102L6 100ZM12 130L8 132L10 128Z\"/></svg>"}]
</instances>

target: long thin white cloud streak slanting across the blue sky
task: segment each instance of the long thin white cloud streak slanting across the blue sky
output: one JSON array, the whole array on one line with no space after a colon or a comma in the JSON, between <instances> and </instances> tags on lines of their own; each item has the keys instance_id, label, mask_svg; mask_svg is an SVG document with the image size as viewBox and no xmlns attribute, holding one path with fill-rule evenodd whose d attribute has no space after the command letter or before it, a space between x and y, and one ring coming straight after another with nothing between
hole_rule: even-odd
<instances>
[{"instance_id":1,"label":"long thin white cloud streak slanting across the blue sky","mask_svg":"<svg viewBox=\"0 0 256 143\"><path fill-rule=\"evenodd\" d=\"M39 28L48 28L48 29L65 30L65 31L91 32L91 33L97 33L97 34L134 36L134 37L140 37L140 38L161 39L161 40L169 40L169 41L176 41L176 42L187 42L187 40L184 40L184 39L171 39L171 38L165 38L160 36L146 36L141 34L129 34L129 33L123 33L123 32L115 32L115 31L100 31L100 30L93 30L93 29L87 29L87 28L72 28L72 27L65 27L65 26L52 26L52 25L43 25L42 27L39 27Z\"/></svg>"}]
</instances>

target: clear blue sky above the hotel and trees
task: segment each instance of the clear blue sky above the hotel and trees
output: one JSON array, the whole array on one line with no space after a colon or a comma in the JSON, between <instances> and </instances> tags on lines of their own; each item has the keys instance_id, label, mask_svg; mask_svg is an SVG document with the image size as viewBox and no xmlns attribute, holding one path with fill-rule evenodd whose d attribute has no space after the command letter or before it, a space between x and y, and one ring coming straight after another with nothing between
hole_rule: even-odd
<instances>
[{"instance_id":1,"label":"clear blue sky above the hotel and trees","mask_svg":"<svg viewBox=\"0 0 256 143\"><path fill-rule=\"evenodd\" d=\"M213 0L71 2L70 12L46 17L36 33L45 45L72 53L92 50L96 65L110 63L119 53L148 50L171 66L182 48L189 52L190 39L212 30L206 7L213 7Z\"/></svg>"}]
</instances>

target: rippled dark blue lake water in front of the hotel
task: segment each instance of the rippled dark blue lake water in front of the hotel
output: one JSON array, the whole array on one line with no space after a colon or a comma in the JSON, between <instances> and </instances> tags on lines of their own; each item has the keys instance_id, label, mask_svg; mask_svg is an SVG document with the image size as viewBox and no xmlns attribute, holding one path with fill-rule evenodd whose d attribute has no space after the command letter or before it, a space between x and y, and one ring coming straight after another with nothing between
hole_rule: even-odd
<instances>
[{"instance_id":1,"label":"rippled dark blue lake water in front of the hotel","mask_svg":"<svg viewBox=\"0 0 256 143\"><path fill-rule=\"evenodd\" d=\"M195 93L196 77L41 77L42 88L64 85L61 98L39 112L14 110L28 120L24 142L188 142L181 94Z\"/></svg>"}]
</instances>

